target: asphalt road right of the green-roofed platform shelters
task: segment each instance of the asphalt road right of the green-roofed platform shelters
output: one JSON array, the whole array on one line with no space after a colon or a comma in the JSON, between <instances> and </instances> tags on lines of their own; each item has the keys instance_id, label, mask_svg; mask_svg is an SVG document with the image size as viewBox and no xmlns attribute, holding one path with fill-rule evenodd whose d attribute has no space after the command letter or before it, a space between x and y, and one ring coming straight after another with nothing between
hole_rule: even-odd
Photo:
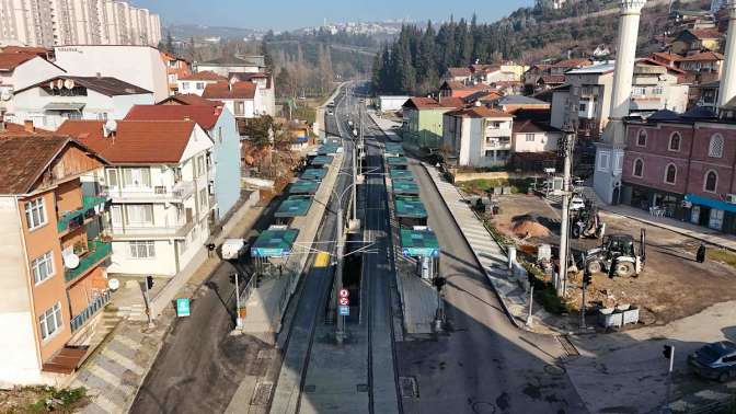
<instances>
[{"instance_id":1,"label":"asphalt road right of the green-roofed platform shelters","mask_svg":"<svg viewBox=\"0 0 736 414\"><path fill-rule=\"evenodd\" d=\"M557 341L508 321L426 171L410 164L442 251L449 333L398 343L399 375L415 380L418 395L403 399L404 412L585 412L555 365Z\"/></svg>"}]
</instances>

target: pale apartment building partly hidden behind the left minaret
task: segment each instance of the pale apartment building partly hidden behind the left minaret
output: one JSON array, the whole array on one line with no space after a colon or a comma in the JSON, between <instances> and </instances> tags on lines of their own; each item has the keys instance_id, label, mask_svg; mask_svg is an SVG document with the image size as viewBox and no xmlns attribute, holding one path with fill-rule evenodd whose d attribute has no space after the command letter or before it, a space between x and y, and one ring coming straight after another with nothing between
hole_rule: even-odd
<instances>
[{"instance_id":1,"label":"pale apartment building partly hidden behind the left minaret","mask_svg":"<svg viewBox=\"0 0 736 414\"><path fill-rule=\"evenodd\" d=\"M568 124L577 128L578 136L599 139L610 113L613 67L613 61L607 61L565 72L570 88L553 91L551 125L561 129ZM652 114L664 108L683 112L689 87L678 83L679 74L663 65L636 62L630 112Z\"/></svg>"}]
</instances>

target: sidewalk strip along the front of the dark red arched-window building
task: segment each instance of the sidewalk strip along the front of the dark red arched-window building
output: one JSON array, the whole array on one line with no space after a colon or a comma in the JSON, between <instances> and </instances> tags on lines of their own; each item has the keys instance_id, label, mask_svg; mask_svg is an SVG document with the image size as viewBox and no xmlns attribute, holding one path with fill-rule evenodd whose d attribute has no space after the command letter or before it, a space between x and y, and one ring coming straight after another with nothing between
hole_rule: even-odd
<instances>
[{"instance_id":1,"label":"sidewalk strip along the front of the dark red arched-window building","mask_svg":"<svg viewBox=\"0 0 736 414\"><path fill-rule=\"evenodd\" d=\"M675 220L667 217L654 217L642 209L630 206L601 205L600 209L606 212L628 217L649 226L670 230L676 233L700 240L704 243L713 244L736 252L736 237L731 234L725 234L701 226L695 226L687 221Z\"/></svg>"}]
</instances>

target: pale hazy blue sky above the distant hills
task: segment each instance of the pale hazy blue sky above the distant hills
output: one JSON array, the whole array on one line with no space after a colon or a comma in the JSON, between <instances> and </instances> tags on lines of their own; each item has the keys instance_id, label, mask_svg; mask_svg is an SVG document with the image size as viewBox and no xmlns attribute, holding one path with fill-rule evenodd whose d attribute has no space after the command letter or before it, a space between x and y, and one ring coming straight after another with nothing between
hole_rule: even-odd
<instances>
[{"instance_id":1,"label":"pale hazy blue sky above the distant hills","mask_svg":"<svg viewBox=\"0 0 736 414\"><path fill-rule=\"evenodd\" d=\"M470 18L495 21L533 0L131 0L161 14L164 24L290 30L332 22Z\"/></svg>"}]
</instances>

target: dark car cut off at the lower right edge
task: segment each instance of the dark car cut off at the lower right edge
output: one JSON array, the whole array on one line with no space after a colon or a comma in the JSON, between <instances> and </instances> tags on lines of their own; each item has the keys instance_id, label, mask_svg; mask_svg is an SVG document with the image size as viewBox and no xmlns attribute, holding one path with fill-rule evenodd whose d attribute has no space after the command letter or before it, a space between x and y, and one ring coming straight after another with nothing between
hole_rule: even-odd
<instances>
[{"instance_id":1,"label":"dark car cut off at the lower right edge","mask_svg":"<svg viewBox=\"0 0 736 414\"><path fill-rule=\"evenodd\" d=\"M688 355L688 365L701 377L726 382L736 378L736 344L714 342Z\"/></svg>"}]
</instances>

